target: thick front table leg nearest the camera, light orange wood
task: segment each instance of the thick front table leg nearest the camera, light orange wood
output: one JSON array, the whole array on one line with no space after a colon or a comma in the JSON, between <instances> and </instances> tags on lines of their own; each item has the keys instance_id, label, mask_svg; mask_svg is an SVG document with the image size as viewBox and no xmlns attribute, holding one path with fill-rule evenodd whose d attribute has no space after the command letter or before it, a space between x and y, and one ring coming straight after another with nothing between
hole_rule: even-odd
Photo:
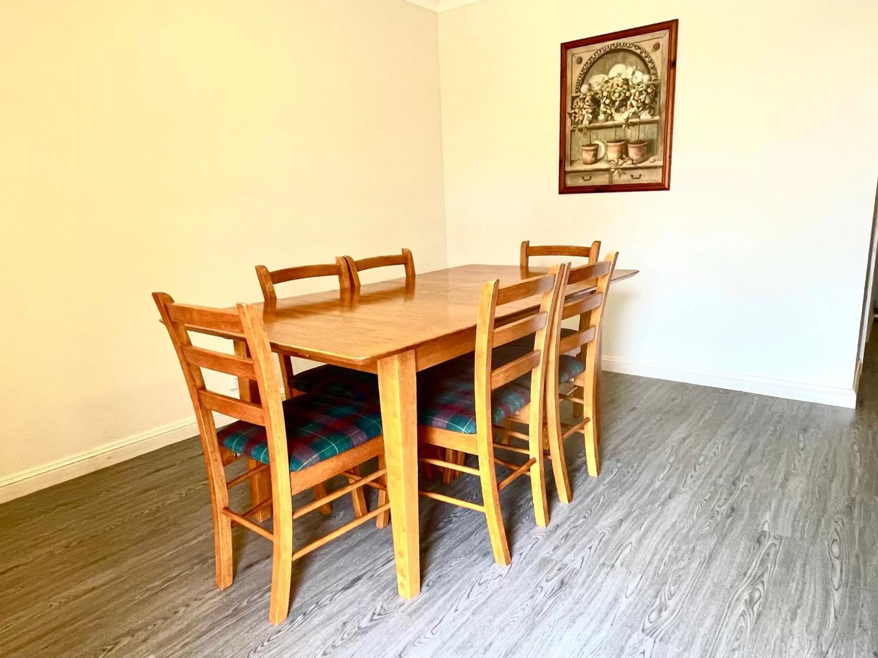
<instances>
[{"instance_id":1,"label":"thick front table leg nearest the camera, light orange wood","mask_svg":"<svg viewBox=\"0 0 878 658\"><path fill-rule=\"evenodd\" d=\"M378 361L387 493L399 596L421 591L418 519L418 425L414 351Z\"/></svg>"}]
</instances>

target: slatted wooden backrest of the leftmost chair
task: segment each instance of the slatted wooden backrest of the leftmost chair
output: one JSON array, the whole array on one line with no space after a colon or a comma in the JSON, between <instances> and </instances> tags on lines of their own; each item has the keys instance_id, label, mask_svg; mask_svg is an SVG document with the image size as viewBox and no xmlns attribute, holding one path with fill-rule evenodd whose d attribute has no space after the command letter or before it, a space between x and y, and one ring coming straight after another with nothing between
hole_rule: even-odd
<instances>
[{"instance_id":1,"label":"slatted wooden backrest of the leftmost chair","mask_svg":"<svg viewBox=\"0 0 878 658\"><path fill-rule=\"evenodd\" d=\"M279 486L280 493L288 491L290 477L284 408L262 311L250 304L238 304L236 311L176 304L172 297L163 292L154 292L153 299L183 368L198 420L208 477L216 479L217 484L221 483L222 490L225 490L223 461L212 414L213 411L218 411L232 418L265 426L273 490L277 492ZM190 333L204 333L234 340L245 344L247 351L239 349L236 354L227 354L195 347L190 340ZM247 355L241 356L241 353ZM239 381L255 382L260 402L248 402L208 390L201 368L234 375ZM213 492L214 488L211 490Z\"/></svg>"}]
</instances>

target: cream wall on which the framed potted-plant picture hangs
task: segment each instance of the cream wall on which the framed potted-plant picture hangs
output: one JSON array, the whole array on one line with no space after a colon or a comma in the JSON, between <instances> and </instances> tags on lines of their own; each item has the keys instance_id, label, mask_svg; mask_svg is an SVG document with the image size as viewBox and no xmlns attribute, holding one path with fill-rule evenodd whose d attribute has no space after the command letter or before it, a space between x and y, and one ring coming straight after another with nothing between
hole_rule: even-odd
<instances>
[{"instance_id":1,"label":"cream wall on which the framed potted-plant picture hangs","mask_svg":"<svg viewBox=\"0 0 878 658\"><path fill-rule=\"evenodd\" d=\"M680 19L671 190L558 195L559 44ZM479 0L439 15L450 265L602 240L605 366L853 404L878 4Z\"/></svg>"}]
</instances>

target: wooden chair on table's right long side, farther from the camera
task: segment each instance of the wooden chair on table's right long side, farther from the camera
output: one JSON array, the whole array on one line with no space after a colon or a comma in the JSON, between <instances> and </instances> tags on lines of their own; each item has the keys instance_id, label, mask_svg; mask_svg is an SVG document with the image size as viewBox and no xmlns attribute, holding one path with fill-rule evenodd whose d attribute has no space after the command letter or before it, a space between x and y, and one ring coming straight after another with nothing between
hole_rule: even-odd
<instances>
[{"instance_id":1,"label":"wooden chair on table's right long side, farther from the camera","mask_svg":"<svg viewBox=\"0 0 878 658\"><path fill-rule=\"evenodd\" d=\"M572 286L595 279L596 288L588 293L574 292L571 295L558 297L558 328L566 318L579 316L579 329L566 335L560 331L552 335L552 358L546 375L545 402L549 452L558 497L563 503L572 500L564 454L565 439L574 433L582 433L586 444L588 475L601 474L601 458L598 453L598 437L594 432L594 419L600 413L598 374L601 367L603 311L617 257L618 253L613 253L601 262L572 268L566 285ZM570 393L560 392L560 386L565 383L574 385ZM561 400L571 401L575 405L574 411L583 410L579 422L572 426L561 423Z\"/></svg>"}]
</instances>

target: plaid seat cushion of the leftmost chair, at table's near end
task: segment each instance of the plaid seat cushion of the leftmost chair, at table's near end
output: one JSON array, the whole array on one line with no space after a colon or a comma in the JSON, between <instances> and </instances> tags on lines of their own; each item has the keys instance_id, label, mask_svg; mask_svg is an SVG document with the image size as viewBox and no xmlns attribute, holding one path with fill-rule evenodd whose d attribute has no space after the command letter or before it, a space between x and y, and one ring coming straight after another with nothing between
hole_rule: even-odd
<instances>
[{"instance_id":1,"label":"plaid seat cushion of the leftmost chair, at table's near end","mask_svg":"<svg viewBox=\"0 0 878 658\"><path fill-rule=\"evenodd\" d=\"M340 397L299 396L284 401L290 470L298 471L342 454L381 434L378 404ZM238 420L217 432L229 450L269 463L265 428Z\"/></svg>"}]
</instances>

